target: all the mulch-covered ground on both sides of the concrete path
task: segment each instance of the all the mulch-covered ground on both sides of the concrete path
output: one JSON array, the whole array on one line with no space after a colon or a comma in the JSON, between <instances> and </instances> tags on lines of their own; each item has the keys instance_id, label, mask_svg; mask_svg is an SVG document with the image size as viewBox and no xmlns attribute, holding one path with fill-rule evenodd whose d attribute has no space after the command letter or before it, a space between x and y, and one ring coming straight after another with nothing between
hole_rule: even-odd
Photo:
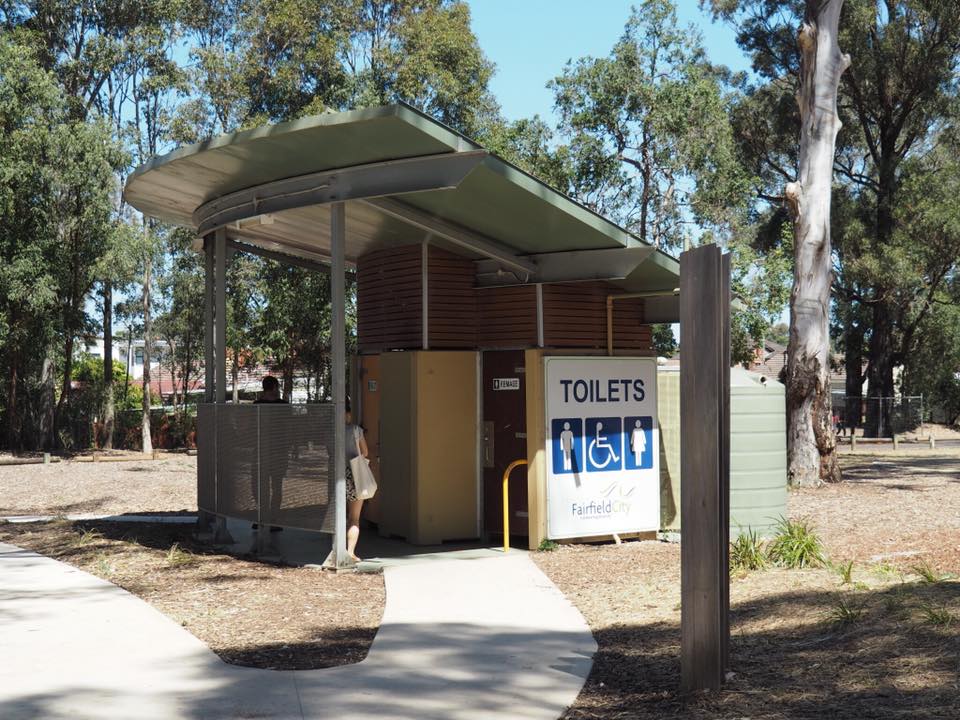
<instances>
[{"instance_id":1,"label":"all the mulch-covered ground on both sides of the concrete path","mask_svg":"<svg viewBox=\"0 0 960 720\"><path fill-rule=\"evenodd\" d=\"M164 464L165 463L165 464ZM832 569L770 569L731 581L734 675L677 692L680 548L563 546L535 561L599 644L568 720L960 717L960 457L843 458L847 482L792 491ZM140 469L134 469L140 468ZM194 459L0 467L5 514L192 509ZM329 575L218 554L178 525L0 525L0 540L127 588L228 662L311 668L362 659L383 612L380 576ZM917 568L936 582L923 582Z\"/></svg>"}]
</instances>

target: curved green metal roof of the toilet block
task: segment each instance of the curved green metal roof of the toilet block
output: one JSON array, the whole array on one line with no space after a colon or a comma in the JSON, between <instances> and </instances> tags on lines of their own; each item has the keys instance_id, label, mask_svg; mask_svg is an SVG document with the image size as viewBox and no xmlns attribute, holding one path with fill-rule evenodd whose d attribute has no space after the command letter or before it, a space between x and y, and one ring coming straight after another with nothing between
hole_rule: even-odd
<instances>
[{"instance_id":1,"label":"curved green metal roof of the toilet block","mask_svg":"<svg viewBox=\"0 0 960 720\"><path fill-rule=\"evenodd\" d=\"M348 260L429 239L532 280L531 255L643 247L653 262L625 253L618 279L666 289L678 275L673 258L406 105L182 147L138 168L124 197L164 222L314 259L329 251L329 203L346 201Z\"/></svg>"}]
</instances>

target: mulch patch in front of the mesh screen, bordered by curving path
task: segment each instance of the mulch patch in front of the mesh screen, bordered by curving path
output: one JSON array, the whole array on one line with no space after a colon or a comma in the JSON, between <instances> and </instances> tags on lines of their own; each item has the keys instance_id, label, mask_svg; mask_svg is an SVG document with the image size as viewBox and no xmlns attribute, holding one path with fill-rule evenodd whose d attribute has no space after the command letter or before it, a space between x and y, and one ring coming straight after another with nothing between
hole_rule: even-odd
<instances>
[{"instance_id":1,"label":"mulch patch in front of the mesh screen, bordered by curving path","mask_svg":"<svg viewBox=\"0 0 960 720\"><path fill-rule=\"evenodd\" d=\"M333 575L218 554L191 528L109 522L0 525L0 541L119 585L236 665L359 662L380 627L380 575Z\"/></svg>"}]
</instances>

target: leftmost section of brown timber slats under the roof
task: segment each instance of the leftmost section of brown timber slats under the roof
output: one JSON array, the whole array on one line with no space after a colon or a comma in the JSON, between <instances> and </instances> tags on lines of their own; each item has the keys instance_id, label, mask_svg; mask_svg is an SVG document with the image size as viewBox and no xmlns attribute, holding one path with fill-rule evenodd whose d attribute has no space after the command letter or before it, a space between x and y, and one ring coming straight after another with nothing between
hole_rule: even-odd
<instances>
[{"instance_id":1,"label":"leftmost section of brown timber slats under the roof","mask_svg":"<svg viewBox=\"0 0 960 720\"><path fill-rule=\"evenodd\" d=\"M357 261L357 339L361 352L420 347L420 246L378 250Z\"/></svg>"}]
</instances>

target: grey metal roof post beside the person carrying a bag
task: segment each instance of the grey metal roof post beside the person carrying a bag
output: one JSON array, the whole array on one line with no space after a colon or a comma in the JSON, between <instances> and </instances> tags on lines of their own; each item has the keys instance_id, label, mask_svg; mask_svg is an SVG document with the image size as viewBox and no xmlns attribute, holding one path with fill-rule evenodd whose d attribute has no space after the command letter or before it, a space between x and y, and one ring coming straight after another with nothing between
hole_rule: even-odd
<instances>
[{"instance_id":1,"label":"grey metal roof post beside the person carrying a bag","mask_svg":"<svg viewBox=\"0 0 960 720\"><path fill-rule=\"evenodd\" d=\"M332 318L330 334L333 342L333 477L334 511L336 524L333 535L333 561L342 568L349 563L347 556L347 454L346 454L346 208L342 202L330 205L330 295Z\"/></svg>"}]
</instances>

